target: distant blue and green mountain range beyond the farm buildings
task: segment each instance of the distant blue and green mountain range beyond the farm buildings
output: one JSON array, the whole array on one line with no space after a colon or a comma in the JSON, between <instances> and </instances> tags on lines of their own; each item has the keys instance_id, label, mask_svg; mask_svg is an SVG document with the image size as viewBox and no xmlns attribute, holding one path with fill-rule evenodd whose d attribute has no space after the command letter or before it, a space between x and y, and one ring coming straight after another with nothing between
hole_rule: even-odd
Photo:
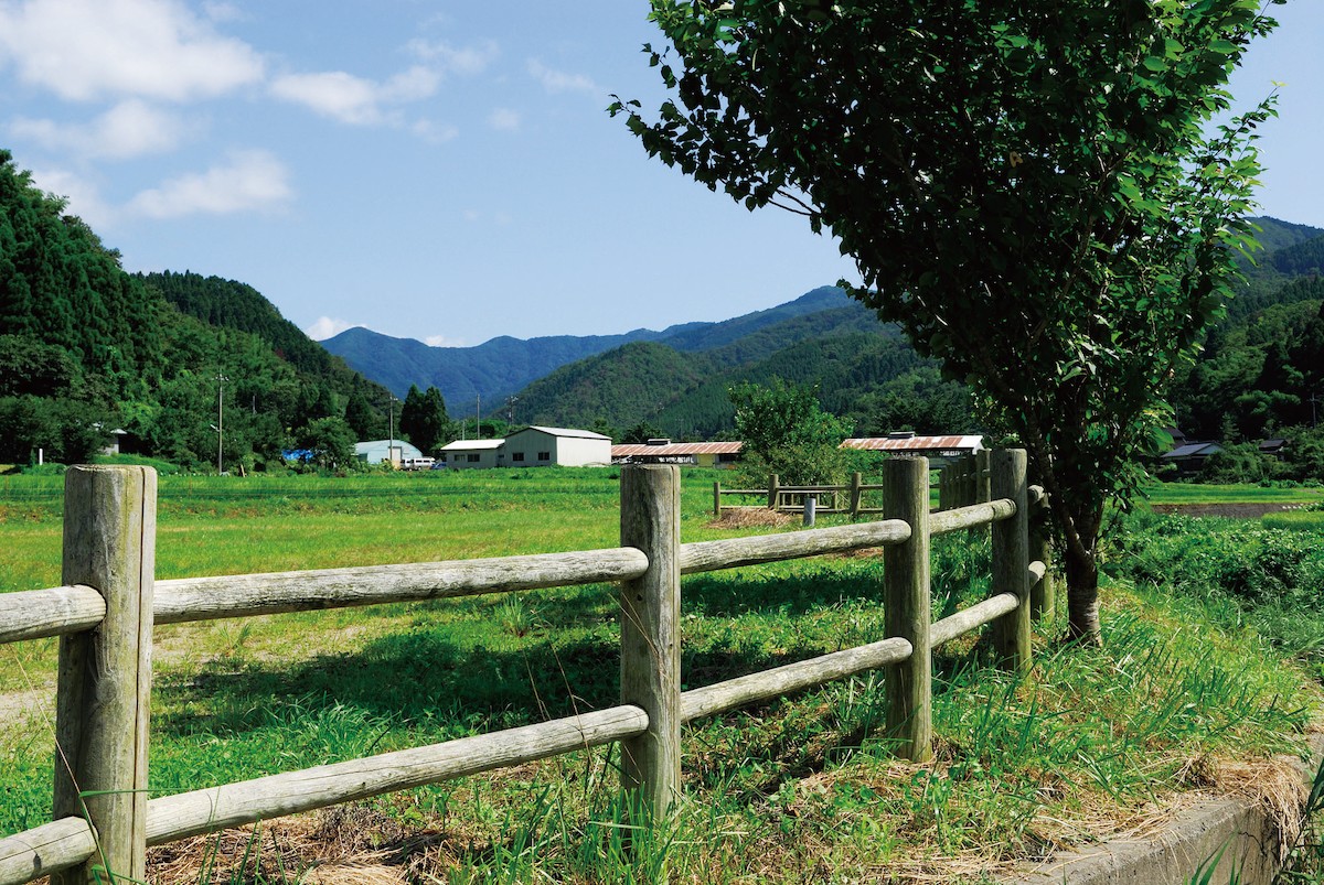
<instances>
[{"instance_id":1,"label":"distant blue and green mountain range beyond the farm buildings","mask_svg":"<svg viewBox=\"0 0 1324 885\"><path fill-rule=\"evenodd\" d=\"M1262 321L1270 308L1286 310L1280 303L1296 304L1294 316L1301 317L1317 307L1316 287L1303 280L1324 267L1324 230L1255 221L1262 249L1247 265L1247 282L1227 317L1213 331L1206 360L1223 352L1229 329ZM1272 316L1270 321L1279 323ZM1237 347L1245 340L1245 332L1231 339ZM481 398L486 413L515 423L624 429L646 422L671 435L707 438L732 426L726 393L732 384L781 377L817 386L824 406L851 418L859 433L973 429L964 388L943 381L937 365L919 357L894 327L830 286L771 310L662 331L498 337L473 348L436 348L355 328L323 345L397 394L409 385L437 386L455 417L473 415ZM1239 358L1258 370L1266 360L1262 351ZM1238 377L1254 386L1258 377L1251 372L1247 380L1247 372ZM1193 373L1178 385L1177 398L1239 396L1209 386L1205 376ZM1197 423L1207 419L1201 415Z\"/></svg>"}]
</instances>

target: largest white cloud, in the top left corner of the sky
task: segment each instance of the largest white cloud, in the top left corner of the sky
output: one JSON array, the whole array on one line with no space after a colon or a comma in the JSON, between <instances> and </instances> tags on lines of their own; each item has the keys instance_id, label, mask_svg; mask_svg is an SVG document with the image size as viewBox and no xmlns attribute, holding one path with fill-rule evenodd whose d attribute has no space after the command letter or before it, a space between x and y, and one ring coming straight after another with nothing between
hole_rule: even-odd
<instances>
[{"instance_id":1,"label":"largest white cloud, in the top left corner of the sky","mask_svg":"<svg viewBox=\"0 0 1324 885\"><path fill-rule=\"evenodd\" d=\"M0 4L0 62L69 101L188 101L262 79L248 44L217 34L177 0Z\"/></svg>"}]
</instances>

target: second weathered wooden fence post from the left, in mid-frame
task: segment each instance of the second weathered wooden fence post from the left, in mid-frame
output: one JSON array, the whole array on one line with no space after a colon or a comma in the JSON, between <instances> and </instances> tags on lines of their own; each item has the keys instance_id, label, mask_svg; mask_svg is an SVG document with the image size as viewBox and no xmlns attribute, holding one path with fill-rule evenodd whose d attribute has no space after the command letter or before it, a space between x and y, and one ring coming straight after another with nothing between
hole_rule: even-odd
<instances>
[{"instance_id":1,"label":"second weathered wooden fence post from the left, in mid-frame","mask_svg":"<svg viewBox=\"0 0 1324 885\"><path fill-rule=\"evenodd\" d=\"M621 583L621 704L649 714L649 729L621 743L621 784L651 820L681 790L681 471L621 471L621 546L649 570Z\"/></svg>"}]
</instances>

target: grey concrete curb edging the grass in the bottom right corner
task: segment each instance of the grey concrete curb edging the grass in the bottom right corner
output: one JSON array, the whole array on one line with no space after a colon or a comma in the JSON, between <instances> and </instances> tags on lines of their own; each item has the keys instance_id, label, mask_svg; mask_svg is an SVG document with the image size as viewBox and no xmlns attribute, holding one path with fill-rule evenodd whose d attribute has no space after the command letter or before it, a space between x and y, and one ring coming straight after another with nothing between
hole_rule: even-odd
<instances>
[{"instance_id":1,"label":"grey concrete curb edging the grass in the bottom right corner","mask_svg":"<svg viewBox=\"0 0 1324 885\"><path fill-rule=\"evenodd\" d=\"M1324 734L1309 739L1311 761L1294 759L1307 783L1324 761ZM1062 852L1026 865L1005 885L1189 885L1200 864L1225 845L1211 878L1227 882L1235 870L1242 885L1270 885L1278 874L1280 835L1264 811L1245 799L1211 799L1182 812L1153 839L1119 839Z\"/></svg>"}]
</instances>

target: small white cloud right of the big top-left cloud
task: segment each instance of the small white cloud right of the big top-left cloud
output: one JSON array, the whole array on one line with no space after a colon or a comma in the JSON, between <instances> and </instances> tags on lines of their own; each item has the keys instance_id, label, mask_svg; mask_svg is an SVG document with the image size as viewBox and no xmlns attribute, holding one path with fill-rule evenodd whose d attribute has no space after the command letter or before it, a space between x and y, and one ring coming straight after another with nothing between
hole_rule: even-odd
<instances>
[{"instance_id":1,"label":"small white cloud right of the big top-left cloud","mask_svg":"<svg viewBox=\"0 0 1324 885\"><path fill-rule=\"evenodd\" d=\"M437 91L441 75L416 65L384 83L355 77L346 71L319 74L286 74L271 83L271 94L316 114L352 126L376 126L396 122L388 110L428 98Z\"/></svg>"}]
</instances>

